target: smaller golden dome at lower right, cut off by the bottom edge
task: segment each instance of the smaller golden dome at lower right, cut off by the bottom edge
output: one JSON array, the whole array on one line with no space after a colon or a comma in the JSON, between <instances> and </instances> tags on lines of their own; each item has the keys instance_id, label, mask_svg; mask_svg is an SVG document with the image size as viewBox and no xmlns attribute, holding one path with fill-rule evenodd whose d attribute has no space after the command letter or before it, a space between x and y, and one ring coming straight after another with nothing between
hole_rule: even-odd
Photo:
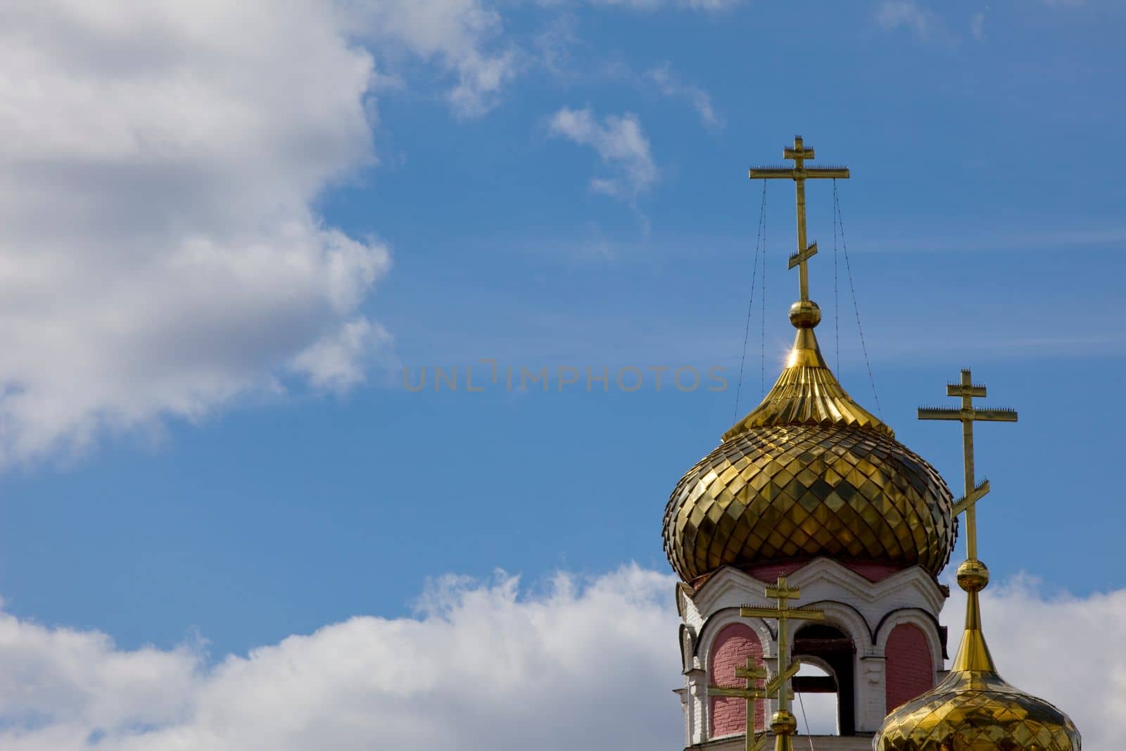
<instances>
[{"instance_id":1,"label":"smaller golden dome at lower right, cut off by the bottom edge","mask_svg":"<svg viewBox=\"0 0 1126 751\"><path fill-rule=\"evenodd\" d=\"M989 571L971 558L958 567L968 592L966 631L950 673L937 687L895 708L873 742L875 751L1080 751L1074 723L1044 699L998 674L981 628L977 592Z\"/></svg>"}]
</instances>

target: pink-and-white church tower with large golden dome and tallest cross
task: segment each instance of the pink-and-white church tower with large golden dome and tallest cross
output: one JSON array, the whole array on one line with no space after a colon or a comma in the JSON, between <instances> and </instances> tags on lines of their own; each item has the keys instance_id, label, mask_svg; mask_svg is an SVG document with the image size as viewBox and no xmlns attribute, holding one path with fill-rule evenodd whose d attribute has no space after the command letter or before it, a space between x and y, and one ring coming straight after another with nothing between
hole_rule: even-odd
<instances>
[{"instance_id":1,"label":"pink-and-white church tower with large golden dome and tallest cross","mask_svg":"<svg viewBox=\"0 0 1126 751\"><path fill-rule=\"evenodd\" d=\"M870 749L890 710L936 686L947 656L938 574L957 534L951 493L844 392L814 333L805 180L849 172L806 167L814 152L801 137L784 153L793 168L751 178L796 187L794 347L762 403L685 474L664 512L681 581L688 748L762 748L763 732L792 748L789 679L793 691L837 696L838 734L817 736L817 751ZM795 678L798 663L825 677Z\"/></svg>"}]
</instances>

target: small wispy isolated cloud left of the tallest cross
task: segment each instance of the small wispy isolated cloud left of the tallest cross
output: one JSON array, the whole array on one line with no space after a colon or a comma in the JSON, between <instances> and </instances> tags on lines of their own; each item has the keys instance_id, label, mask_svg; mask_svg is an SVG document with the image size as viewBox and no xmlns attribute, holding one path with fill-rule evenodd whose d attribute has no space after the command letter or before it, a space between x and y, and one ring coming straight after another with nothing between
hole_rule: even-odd
<instances>
[{"instance_id":1,"label":"small wispy isolated cloud left of the tallest cross","mask_svg":"<svg viewBox=\"0 0 1126 751\"><path fill-rule=\"evenodd\" d=\"M613 178L598 177L590 181L596 193L634 200L656 182L659 171L650 152L649 138L636 115L607 115L599 120L590 108L564 107L548 122L552 135L595 149L602 163L615 169Z\"/></svg>"}]
</instances>

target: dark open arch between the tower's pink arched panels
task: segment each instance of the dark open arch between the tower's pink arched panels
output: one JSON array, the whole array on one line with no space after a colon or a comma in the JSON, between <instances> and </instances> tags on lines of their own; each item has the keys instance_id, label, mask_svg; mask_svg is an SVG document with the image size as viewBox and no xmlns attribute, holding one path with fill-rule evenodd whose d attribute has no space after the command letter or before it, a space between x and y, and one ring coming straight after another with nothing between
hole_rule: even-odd
<instances>
[{"instance_id":1,"label":"dark open arch between the tower's pink arched panels","mask_svg":"<svg viewBox=\"0 0 1126 751\"><path fill-rule=\"evenodd\" d=\"M803 700L813 694L833 697L840 735L856 735L855 655L852 640L835 626L810 624L794 635L794 656L808 658L813 665L822 667L824 673L803 676L799 672L794 677L794 691L803 694Z\"/></svg>"}]
</instances>

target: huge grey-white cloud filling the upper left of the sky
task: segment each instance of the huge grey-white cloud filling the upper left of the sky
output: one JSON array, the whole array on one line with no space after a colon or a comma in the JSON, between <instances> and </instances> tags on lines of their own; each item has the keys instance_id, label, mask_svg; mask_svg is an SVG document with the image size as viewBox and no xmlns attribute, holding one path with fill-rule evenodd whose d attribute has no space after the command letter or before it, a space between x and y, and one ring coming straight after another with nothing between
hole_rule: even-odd
<instances>
[{"instance_id":1,"label":"huge grey-white cloud filling the upper left of the sky","mask_svg":"<svg viewBox=\"0 0 1126 751\"><path fill-rule=\"evenodd\" d=\"M285 377L339 388L387 340L387 248L313 202L375 161L373 50L455 111L512 54L477 0L50 0L0 25L0 465ZM369 46L358 46L363 41ZM446 75L447 73L441 73Z\"/></svg>"}]
</instances>

